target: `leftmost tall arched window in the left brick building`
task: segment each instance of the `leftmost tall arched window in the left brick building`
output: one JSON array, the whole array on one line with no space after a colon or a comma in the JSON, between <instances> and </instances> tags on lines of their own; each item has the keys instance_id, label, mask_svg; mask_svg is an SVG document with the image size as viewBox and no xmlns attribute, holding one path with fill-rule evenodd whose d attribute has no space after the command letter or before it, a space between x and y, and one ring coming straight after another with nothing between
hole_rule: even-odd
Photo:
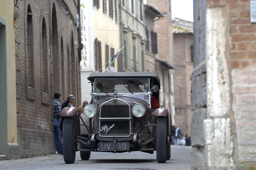
<instances>
[{"instance_id":1,"label":"leftmost tall arched window in the left brick building","mask_svg":"<svg viewBox=\"0 0 256 170\"><path fill-rule=\"evenodd\" d=\"M33 21L30 5L27 13L27 83L34 88Z\"/></svg>"}]
</instances>

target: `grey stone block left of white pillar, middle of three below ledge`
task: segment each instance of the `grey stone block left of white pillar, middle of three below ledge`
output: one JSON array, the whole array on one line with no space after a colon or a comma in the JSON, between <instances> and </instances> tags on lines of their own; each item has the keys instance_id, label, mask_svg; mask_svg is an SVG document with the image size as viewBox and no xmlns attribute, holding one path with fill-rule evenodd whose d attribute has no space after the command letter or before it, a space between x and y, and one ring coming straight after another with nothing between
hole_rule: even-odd
<instances>
[{"instance_id":1,"label":"grey stone block left of white pillar, middle of three below ledge","mask_svg":"<svg viewBox=\"0 0 256 170\"><path fill-rule=\"evenodd\" d=\"M204 140L204 124L207 119L207 109L200 108L194 110L191 116L191 146L199 147L205 145Z\"/></svg>"}]
</instances>

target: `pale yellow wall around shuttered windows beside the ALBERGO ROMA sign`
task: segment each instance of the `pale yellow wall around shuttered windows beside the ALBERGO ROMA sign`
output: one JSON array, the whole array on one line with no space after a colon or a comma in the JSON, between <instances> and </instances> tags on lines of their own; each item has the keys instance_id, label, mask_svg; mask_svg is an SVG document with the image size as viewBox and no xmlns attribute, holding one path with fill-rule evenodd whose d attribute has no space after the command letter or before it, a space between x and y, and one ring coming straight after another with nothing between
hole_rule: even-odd
<instances>
[{"instance_id":1,"label":"pale yellow wall around shuttered windows beside the ALBERGO ROMA sign","mask_svg":"<svg viewBox=\"0 0 256 170\"><path fill-rule=\"evenodd\" d=\"M117 4L118 5L118 4ZM101 56L102 56L102 71L108 66L105 65L105 44L109 45L109 59L110 48L114 48L114 54L121 48L121 33L120 33L120 20L119 20L119 5L118 10L118 23L115 22L115 4L113 3L114 19L109 16L109 1L106 1L107 13L103 13L103 1L100 1L100 8L93 7L93 39L98 38L101 41ZM120 55L119 55L120 57ZM115 72L117 71L117 58L115 59Z\"/></svg>"}]
</instances>

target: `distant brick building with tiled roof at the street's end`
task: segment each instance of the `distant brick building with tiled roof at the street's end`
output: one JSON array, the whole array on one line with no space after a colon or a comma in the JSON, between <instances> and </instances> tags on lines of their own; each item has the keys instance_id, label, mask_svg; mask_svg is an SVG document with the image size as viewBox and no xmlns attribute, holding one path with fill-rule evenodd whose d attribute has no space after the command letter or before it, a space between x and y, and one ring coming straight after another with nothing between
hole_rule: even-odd
<instances>
[{"instance_id":1,"label":"distant brick building with tiled roof at the street's end","mask_svg":"<svg viewBox=\"0 0 256 170\"><path fill-rule=\"evenodd\" d=\"M193 71L193 22L173 19L175 122L190 136L190 75Z\"/></svg>"}]
</instances>

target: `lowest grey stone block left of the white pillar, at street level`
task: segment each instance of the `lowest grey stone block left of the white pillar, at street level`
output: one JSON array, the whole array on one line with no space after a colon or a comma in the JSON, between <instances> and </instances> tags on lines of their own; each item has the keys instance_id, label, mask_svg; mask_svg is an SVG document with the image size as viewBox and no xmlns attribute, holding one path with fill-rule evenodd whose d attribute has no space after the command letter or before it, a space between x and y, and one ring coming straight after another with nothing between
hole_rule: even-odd
<instances>
[{"instance_id":1,"label":"lowest grey stone block left of the white pillar, at street level","mask_svg":"<svg viewBox=\"0 0 256 170\"><path fill-rule=\"evenodd\" d=\"M194 147L191 150L191 166L205 166L205 148Z\"/></svg>"}]
</instances>

